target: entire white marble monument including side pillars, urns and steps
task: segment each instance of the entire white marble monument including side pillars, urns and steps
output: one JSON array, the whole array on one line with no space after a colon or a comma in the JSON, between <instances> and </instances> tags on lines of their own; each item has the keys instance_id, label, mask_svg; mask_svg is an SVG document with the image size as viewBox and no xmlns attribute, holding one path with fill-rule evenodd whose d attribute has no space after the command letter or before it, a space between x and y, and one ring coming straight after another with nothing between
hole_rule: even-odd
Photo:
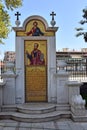
<instances>
[{"instance_id":1,"label":"entire white marble monument including side pillars, urns and steps","mask_svg":"<svg viewBox=\"0 0 87 130\"><path fill-rule=\"evenodd\" d=\"M16 64L13 71L14 64L7 62L6 72L1 75L1 118L40 122L71 117L74 121L87 121L86 102L79 89L82 83L69 81L67 64L56 61L56 14L50 14L51 27L38 15L28 17L19 27L20 13L15 15Z\"/></svg>"}]
</instances>

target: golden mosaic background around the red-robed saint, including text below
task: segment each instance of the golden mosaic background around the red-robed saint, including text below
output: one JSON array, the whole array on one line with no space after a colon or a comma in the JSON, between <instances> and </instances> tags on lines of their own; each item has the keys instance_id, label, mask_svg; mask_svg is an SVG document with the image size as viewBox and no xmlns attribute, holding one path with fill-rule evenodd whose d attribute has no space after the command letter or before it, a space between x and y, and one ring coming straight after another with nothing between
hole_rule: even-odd
<instances>
[{"instance_id":1,"label":"golden mosaic background around the red-robed saint, including text below","mask_svg":"<svg viewBox=\"0 0 87 130\"><path fill-rule=\"evenodd\" d=\"M39 44L38 49L44 54L45 65L30 65L26 57L26 51L31 53L36 42ZM26 40L24 47L25 100L26 102L47 101L47 41Z\"/></svg>"}]
</instances>

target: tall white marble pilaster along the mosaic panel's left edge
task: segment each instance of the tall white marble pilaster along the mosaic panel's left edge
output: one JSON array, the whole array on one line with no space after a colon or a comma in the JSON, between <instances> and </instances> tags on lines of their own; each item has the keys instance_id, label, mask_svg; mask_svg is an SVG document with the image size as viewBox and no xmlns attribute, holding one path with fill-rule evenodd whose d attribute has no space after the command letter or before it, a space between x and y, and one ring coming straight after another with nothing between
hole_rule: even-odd
<instances>
[{"instance_id":1,"label":"tall white marble pilaster along the mosaic panel's left edge","mask_svg":"<svg viewBox=\"0 0 87 130\"><path fill-rule=\"evenodd\" d=\"M24 39L16 37L16 103L25 102Z\"/></svg>"}]
</instances>

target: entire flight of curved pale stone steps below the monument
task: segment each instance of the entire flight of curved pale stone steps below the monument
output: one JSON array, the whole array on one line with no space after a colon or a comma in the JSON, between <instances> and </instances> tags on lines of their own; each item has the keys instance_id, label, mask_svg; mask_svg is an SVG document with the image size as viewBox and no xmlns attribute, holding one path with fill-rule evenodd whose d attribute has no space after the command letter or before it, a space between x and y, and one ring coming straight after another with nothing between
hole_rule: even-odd
<instances>
[{"instance_id":1,"label":"entire flight of curved pale stone steps below the monument","mask_svg":"<svg viewBox=\"0 0 87 130\"><path fill-rule=\"evenodd\" d=\"M70 118L69 104L25 103L2 106L0 119L13 119L23 122L45 122Z\"/></svg>"}]
</instances>

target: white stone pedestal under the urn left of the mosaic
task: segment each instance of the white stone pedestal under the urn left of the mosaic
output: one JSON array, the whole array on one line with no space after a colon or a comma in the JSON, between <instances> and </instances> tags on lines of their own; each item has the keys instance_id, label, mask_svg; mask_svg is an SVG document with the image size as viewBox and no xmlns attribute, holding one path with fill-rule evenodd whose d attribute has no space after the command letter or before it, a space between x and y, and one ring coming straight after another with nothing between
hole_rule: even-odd
<instances>
[{"instance_id":1,"label":"white stone pedestal under the urn left of the mosaic","mask_svg":"<svg viewBox=\"0 0 87 130\"><path fill-rule=\"evenodd\" d=\"M3 87L3 105L15 104L15 78L14 74L3 74L3 80L6 82Z\"/></svg>"}]
</instances>

